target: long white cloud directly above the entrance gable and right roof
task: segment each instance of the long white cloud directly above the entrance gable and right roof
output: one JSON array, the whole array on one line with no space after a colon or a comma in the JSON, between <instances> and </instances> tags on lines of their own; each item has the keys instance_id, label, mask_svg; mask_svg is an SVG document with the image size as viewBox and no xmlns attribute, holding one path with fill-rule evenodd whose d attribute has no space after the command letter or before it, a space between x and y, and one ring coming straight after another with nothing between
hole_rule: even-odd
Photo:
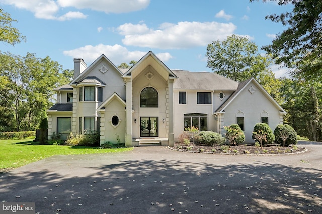
<instances>
[{"instance_id":1,"label":"long white cloud directly above the entrance gable and right roof","mask_svg":"<svg viewBox=\"0 0 322 214\"><path fill-rule=\"evenodd\" d=\"M206 46L214 40L223 40L233 34L236 26L218 22L163 23L156 30L145 24L127 23L117 28L124 35L124 45L139 47L180 49Z\"/></svg>"}]
</instances>

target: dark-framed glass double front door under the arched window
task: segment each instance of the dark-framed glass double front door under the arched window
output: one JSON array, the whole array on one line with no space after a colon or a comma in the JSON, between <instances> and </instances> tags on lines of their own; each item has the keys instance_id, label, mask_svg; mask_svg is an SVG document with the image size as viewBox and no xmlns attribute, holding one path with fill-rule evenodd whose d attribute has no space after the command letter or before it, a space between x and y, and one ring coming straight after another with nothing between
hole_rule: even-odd
<instances>
[{"instance_id":1,"label":"dark-framed glass double front door under the arched window","mask_svg":"<svg viewBox=\"0 0 322 214\"><path fill-rule=\"evenodd\" d=\"M141 137L158 136L158 117L141 117Z\"/></svg>"}]
</instances>

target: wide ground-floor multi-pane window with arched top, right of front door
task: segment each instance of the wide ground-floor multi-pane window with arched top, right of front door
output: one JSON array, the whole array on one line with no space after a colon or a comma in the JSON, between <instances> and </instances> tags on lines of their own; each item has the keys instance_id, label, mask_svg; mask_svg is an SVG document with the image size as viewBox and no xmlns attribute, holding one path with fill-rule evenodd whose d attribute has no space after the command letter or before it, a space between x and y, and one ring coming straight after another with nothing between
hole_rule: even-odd
<instances>
[{"instance_id":1,"label":"wide ground-floor multi-pane window with arched top, right of front door","mask_svg":"<svg viewBox=\"0 0 322 214\"><path fill-rule=\"evenodd\" d=\"M194 126L199 131L208 131L208 115L207 114L184 114L183 115L184 131Z\"/></svg>"}]
</instances>

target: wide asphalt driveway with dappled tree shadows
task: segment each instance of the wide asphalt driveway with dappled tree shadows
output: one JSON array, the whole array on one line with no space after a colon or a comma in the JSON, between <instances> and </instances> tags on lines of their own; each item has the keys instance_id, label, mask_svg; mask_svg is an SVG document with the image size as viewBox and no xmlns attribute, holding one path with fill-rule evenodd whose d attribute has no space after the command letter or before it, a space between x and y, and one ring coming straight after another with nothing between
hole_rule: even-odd
<instances>
[{"instance_id":1,"label":"wide asphalt driveway with dappled tree shadows","mask_svg":"<svg viewBox=\"0 0 322 214\"><path fill-rule=\"evenodd\" d=\"M0 174L0 201L36 213L322 213L322 144L246 156L136 147L53 156Z\"/></svg>"}]
</instances>

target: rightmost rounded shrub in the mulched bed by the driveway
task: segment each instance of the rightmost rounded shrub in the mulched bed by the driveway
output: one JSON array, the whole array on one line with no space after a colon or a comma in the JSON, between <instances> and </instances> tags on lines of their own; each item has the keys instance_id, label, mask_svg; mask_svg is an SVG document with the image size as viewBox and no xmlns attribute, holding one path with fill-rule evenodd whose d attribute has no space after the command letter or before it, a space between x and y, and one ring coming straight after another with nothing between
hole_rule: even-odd
<instances>
[{"instance_id":1,"label":"rightmost rounded shrub in the mulched bed by the driveway","mask_svg":"<svg viewBox=\"0 0 322 214\"><path fill-rule=\"evenodd\" d=\"M290 144L297 144L297 133L290 125L278 124L274 130L275 143L281 146L288 146Z\"/></svg>"}]
</instances>

